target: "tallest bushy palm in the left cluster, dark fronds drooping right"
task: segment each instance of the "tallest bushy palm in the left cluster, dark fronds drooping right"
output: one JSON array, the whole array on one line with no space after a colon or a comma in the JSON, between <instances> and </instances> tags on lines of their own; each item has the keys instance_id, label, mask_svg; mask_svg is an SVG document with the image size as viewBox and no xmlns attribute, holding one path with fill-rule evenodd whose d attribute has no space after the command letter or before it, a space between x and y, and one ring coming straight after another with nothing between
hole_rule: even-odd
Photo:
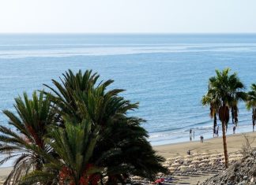
<instances>
[{"instance_id":1,"label":"tallest bushy palm in the left cluster, dark fronds drooping right","mask_svg":"<svg viewBox=\"0 0 256 185\"><path fill-rule=\"evenodd\" d=\"M127 116L137 109L137 103L120 97L123 90L107 91L113 80L97 83L98 78L92 71L79 71L77 74L69 71L61 83L53 80L56 89L47 86L54 92L50 95L51 100L58 106L58 113L64 120L63 127L66 121L80 123L82 120L92 122L92 131L94 127L100 127L100 138L92 155L94 161L109 150L122 151L100 162L100 167L107 168L111 183L120 182L121 177L128 173L153 179L157 172L167 172L160 165L164 158L157 156L146 140L149 135L141 128L144 120ZM145 148L144 153L141 148Z\"/></svg>"}]
</instances>

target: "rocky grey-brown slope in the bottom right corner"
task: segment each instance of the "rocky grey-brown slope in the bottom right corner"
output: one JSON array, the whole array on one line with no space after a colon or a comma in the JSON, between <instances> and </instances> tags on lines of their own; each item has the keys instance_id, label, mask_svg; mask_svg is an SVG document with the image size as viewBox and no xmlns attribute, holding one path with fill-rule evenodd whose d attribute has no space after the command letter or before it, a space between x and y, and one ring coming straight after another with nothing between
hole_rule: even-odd
<instances>
[{"instance_id":1,"label":"rocky grey-brown slope in the bottom right corner","mask_svg":"<svg viewBox=\"0 0 256 185\"><path fill-rule=\"evenodd\" d=\"M256 184L256 150L236 161L227 170L207 179L202 185Z\"/></svg>"}]
</instances>

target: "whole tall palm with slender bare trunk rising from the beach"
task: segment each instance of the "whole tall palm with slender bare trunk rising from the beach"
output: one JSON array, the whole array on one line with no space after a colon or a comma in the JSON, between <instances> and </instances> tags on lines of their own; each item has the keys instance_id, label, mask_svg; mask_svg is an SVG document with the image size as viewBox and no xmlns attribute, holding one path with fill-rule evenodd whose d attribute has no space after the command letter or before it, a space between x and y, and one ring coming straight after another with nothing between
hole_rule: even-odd
<instances>
[{"instance_id":1,"label":"whole tall palm with slender bare trunk rising from the beach","mask_svg":"<svg viewBox=\"0 0 256 185\"><path fill-rule=\"evenodd\" d=\"M220 102L218 109L219 119L222 124L223 145L225 167L228 168L228 150L226 142L226 131L228 128L229 108L235 106L236 101L243 99L243 83L240 82L236 73L228 75L229 68L225 68L222 72L216 70L216 76L209 79L209 90L207 94L212 94L214 98ZM234 85L235 84L235 85Z\"/></svg>"}]
</instances>

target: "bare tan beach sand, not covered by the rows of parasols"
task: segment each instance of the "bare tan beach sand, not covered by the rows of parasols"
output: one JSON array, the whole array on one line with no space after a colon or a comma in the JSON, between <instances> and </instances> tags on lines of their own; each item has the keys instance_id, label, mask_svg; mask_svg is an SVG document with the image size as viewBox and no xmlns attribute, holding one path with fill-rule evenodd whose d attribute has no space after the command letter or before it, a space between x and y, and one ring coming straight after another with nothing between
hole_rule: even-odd
<instances>
[{"instance_id":1,"label":"bare tan beach sand, not covered by the rows of parasols","mask_svg":"<svg viewBox=\"0 0 256 185\"><path fill-rule=\"evenodd\" d=\"M236 135L228 135L227 143L228 143L228 154L235 154L241 152L243 144L245 144L246 139L244 135L247 136L250 142L251 147L256 147L256 132L250 132L245 134L236 134ZM255 141L253 142L253 140ZM191 150L191 156L200 155L200 154L223 154L223 144L222 137L214 138L214 139L206 139L203 143L200 141L192 141L192 142L181 142L176 144L169 144L163 146L153 146L154 150L157 151L158 154L167 158L168 160L175 159L177 157L186 157L187 150ZM8 176L11 171L11 167L0 168L0 184L4 181L6 176ZM197 184L198 181L203 182L205 179L213 176L215 173L199 173L197 176L175 176L175 182L170 184Z\"/></svg>"}]
</instances>

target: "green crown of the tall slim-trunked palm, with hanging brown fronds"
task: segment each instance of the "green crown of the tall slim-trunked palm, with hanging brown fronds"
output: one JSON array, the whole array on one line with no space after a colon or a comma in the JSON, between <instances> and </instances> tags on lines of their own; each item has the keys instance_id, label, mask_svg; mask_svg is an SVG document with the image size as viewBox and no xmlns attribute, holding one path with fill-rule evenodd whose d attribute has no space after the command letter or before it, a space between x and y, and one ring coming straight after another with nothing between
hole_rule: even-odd
<instances>
[{"instance_id":1,"label":"green crown of the tall slim-trunked palm, with hanging brown fronds","mask_svg":"<svg viewBox=\"0 0 256 185\"><path fill-rule=\"evenodd\" d=\"M209 78L209 90L202 98L202 104L210 105L211 112L218 113L226 127L229 120L229 108L234 111L232 120L234 119L237 123L237 104L240 100L247 99L247 94L243 91L245 87L237 74L229 75L228 72L230 72L229 68L225 68L222 72L216 70L216 76ZM223 107L220 109L221 106Z\"/></svg>"}]
</instances>

